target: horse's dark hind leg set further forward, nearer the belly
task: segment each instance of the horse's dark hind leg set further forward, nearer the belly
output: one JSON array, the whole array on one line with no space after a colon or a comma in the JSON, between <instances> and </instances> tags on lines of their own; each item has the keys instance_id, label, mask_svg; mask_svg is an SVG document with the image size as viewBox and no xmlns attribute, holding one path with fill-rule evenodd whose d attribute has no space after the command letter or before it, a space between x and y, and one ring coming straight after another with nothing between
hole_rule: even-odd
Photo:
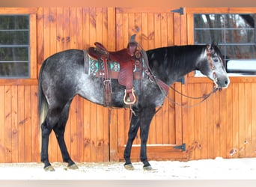
<instances>
[{"instance_id":1,"label":"horse's dark hind leg set further forward, nearer the belly","mask_svg":"<svg viewBox=\"0 0 256 187\"><path fill-rule=\"evenodd\" d=\"M63 111L61 112L61 118L58 121L58 125L54 126L53 130L55 132L58 145L61 149L61 155L64 162L67 162L67 167L70 169L78 169L77 165L73 160L70 158L70 154L67 151L67 146L64 141L64 132L65 132L65 126L67 123L69 111L70 111L70 103L68 102L67 105L65 105Z\"/></svg>"}]
</instances>

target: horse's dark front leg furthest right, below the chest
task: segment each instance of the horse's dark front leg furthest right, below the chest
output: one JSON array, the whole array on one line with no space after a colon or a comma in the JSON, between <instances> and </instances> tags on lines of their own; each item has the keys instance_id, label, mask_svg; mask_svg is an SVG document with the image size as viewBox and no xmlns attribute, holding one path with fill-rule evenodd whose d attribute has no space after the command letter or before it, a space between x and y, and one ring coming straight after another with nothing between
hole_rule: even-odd
<instances>
[{"instance_id":1,"label":"horse's dark front leg furthest right, below the chest","mask_svg":"<svg viewBox=\"0 0 256 187\"><path fill-rule=\"evenodd\" d=\"M147 161L147 138L150 128L150 123L153 118L153 115L156 112L156 108L144 108L141 111L141 123L140 123L140 137L141 137L141 162L143 162L144 170L151 170L150 163Z\"/></svg>"}]
</instances>

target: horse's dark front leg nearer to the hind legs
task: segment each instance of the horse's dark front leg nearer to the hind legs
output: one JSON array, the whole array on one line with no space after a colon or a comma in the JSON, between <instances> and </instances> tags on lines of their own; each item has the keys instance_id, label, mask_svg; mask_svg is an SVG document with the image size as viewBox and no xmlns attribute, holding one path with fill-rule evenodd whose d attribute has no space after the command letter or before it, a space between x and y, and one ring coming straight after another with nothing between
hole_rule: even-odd
<instances>
[{"instance_id":1,"label":"horse's dark front leg nearer to the hind legs","mask_svg":"<svg viewBox=\"0 0 256 187\"><path fill-rule=\"evenodd\" d=\"M130 156L131 156L131 150L132 150L132 142L134 141L138 132L139 121L140 121L140 115L138 114L138 112L136 113L136 115L132 114L132 120L131 120L131 123L129 124L127 146L125 147L125 150L124 150L124 159L125 159L124 168L126 168L127 170L134 169L132 166Z\"/></svg>"}]
</instances>

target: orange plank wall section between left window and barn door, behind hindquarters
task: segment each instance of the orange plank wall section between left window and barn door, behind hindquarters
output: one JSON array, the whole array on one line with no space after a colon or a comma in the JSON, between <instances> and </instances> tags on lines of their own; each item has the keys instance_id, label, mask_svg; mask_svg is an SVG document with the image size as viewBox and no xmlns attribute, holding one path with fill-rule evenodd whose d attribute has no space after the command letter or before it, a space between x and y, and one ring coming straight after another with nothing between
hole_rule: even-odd
<instances>
[{"instance_id":1,"label":"orange plank wall section between left window and barn door, behind hindquarters","mask_svg":"<svg viewBox=\"0 0 256 187\"><path fill-rule=\"evenodd\" d=\"M87 49L94 42L115 50L115 9L43 7L37 13L38 70L43 59L65 49ZM65 139L76 162L109 161L109 109L79 96L73 99ZM49 159L61 161L55 135Z\"/></svg>"}]
</instances>

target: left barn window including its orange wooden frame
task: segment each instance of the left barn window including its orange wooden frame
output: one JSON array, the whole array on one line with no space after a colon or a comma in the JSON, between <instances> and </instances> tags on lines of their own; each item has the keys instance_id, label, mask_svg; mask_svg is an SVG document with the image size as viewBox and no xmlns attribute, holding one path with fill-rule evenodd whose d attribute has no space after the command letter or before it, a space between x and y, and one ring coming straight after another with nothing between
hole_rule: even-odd
<instances>
[{"instance_id":1,"label":"left barn window including its orange wooden frame","mask_svg":"<svg viewBox=\"0 0 256 187\"><path fill-rule=\"evenodd\" d=\"M0 85L37 83L37 7L0 7Z\"/></svg>"}]
</instances>

